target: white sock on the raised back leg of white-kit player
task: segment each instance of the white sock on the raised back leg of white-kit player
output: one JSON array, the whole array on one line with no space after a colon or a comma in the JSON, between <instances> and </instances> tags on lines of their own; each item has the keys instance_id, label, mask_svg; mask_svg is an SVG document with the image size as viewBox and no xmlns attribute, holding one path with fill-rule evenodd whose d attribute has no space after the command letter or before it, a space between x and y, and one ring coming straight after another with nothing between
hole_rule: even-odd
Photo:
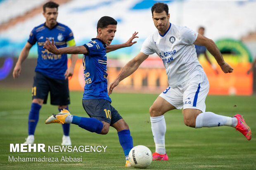
<instances>
[{"instance_id":1,"label":"white sock on the raised back leg of white-kit player","mask_svg":"<svg viewBox=\"0 0 256 170\"><path fill-rule=\"evenodd\" d=\"M196 119L196 127L215 127L215 126L237 126L237 118L221 116L213 112L200 113Z\"/></svg>"}]
</instances>

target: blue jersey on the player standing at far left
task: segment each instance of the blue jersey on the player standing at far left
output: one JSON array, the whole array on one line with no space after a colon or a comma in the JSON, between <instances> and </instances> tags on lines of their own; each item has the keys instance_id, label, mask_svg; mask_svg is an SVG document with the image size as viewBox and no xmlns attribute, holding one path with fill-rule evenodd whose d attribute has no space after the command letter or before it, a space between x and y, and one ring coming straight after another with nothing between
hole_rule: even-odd
<instances>
[{"instance_id":1,"label":"blue jersey on the player standing at far left","mask_svg":"<svg viewBox=\"0 0 256 170\"><path fill-rule=\"evenodd\" d=\"M35 71L43 73L48 77L55 79L65 79L64 74L67 69L67 55L55 55L43 48L46 37L57 48L66 47L66 42L74 39L73 33L69 27L57 23L52 29L48 28L45 23L35 27L29 35L28 42L31 45L38 45L38 59Z\"/></svg>"}]
</instances>

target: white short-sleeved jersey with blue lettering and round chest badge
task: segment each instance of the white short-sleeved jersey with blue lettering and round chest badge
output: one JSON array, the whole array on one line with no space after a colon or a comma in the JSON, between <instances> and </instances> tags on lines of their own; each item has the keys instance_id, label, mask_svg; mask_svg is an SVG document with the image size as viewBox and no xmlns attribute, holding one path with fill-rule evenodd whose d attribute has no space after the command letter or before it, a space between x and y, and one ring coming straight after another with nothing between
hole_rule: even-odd
<instances>
[{"instance_id":1,"label":"white short-sleeved jersey with blue lettering and round chest badge","mask_svg":"<svg viewBox=\"0 0 256 170\"><path fill-rule=\"evenodd\" d=\"M156 53L162 59L168 83L173 88L204 72L193 44L197 35L190 28L170 23L164 35L157 30L147 37L140 52L147 55Z\"/></svg>"}]
</instances>

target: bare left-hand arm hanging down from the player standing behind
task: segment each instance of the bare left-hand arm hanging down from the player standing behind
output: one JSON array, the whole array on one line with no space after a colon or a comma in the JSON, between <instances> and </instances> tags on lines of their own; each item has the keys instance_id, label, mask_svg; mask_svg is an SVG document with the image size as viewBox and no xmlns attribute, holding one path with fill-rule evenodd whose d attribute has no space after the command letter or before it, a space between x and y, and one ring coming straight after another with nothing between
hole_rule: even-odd
<instances>
[{"instance_id":1,"label":"bare left-hand arm hanging down from the player standing behind","mask_svg":"<svg viewBox=\"0 0 256 170\"><path fill-rule=\"evenodd\" d=\"M21 54L19 54L18 61L13 69L12 76L13 78L18 78L21 73L21 64L23 61L28 57L29 50L31 49L32 45L27 42L24 48L21 50Z\"/></svg>"}]
</instances>

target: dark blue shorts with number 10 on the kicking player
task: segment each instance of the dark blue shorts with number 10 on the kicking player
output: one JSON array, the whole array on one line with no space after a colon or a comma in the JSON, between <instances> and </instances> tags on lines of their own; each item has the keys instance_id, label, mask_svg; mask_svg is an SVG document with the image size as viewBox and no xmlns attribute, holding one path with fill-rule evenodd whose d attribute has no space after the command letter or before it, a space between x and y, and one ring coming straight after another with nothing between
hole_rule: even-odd
<instances>
[{"instance_id":1,"label":"dark blue shorts with number 10 on the kicking player","mask_svg":"<svg viewBox=\"0 0 256 170\"><path fill-rule=\"evenodd\" d=\"M83 99L83 108L90 117L105 121L110 126L123 119L119 112L105 99Z\"/></svg>"}]
</instances>

